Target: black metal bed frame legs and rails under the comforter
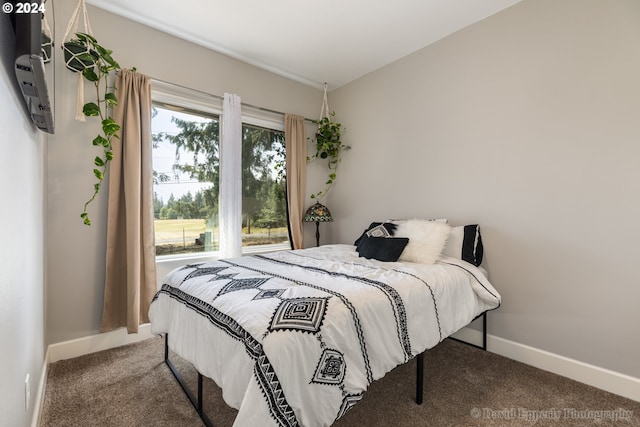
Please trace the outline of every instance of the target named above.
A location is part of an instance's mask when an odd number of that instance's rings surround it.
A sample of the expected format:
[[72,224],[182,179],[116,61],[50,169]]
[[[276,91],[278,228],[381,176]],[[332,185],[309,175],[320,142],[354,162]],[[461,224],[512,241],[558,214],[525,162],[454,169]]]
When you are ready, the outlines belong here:
[[[461,339],[454,338],[454,337],[448,337],[448,338],[486,351],[487,350],[487,312],[485,311],[482,314],[478,315],[475,319],[472,320],[472,322],[478,318],[482,318],[482,344],[481,345],[473,344],[473,343],[463,341]],[[417,362],[416,363],[416,366],[417,366],[416,404],[418,405],[422,405],[423,394],[424,394],[423,393],[424,392],[424,355],[426,352],[427,350],[423,351],[418,356],[416,356],[416,362]],[[184,381],[184,379],[182,378],[182,376],[180,375],[176,367],[173,365],[173,363],[169,359],[169,334],[165,334],[164,362],[167,364],[167,366],[171,370],[171,373],[173,373],[173,376],[178,381],[178,384],[180,384],[180,387],[182,387],[182,390],[189,398],[189,401],[191,402],[195,410],[198,412],[198,415],[200,416],[200,419],[202,419],[202,422],[204,423],[204,425],[207,427],[213,427],[213,423],[211,422],[207,414],[204,412],[203,405],[202,405],[202,394],[203,394],[202,384],[203,384],[204,377],[198,371],[198,391],[197,391],[198,395],[194,396],[193,392],[189,390],[189,387],[187,386],[186,382]]]

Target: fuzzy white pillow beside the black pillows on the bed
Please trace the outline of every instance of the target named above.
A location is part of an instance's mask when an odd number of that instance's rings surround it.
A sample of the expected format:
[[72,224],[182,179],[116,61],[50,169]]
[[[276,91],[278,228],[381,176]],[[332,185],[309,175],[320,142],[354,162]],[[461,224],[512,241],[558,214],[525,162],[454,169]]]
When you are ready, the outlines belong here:
[[434,264],[444,249],[451,226],[442,222],[409,219],[398,222],[394,237],[408,237],[409,243],[398,261]]

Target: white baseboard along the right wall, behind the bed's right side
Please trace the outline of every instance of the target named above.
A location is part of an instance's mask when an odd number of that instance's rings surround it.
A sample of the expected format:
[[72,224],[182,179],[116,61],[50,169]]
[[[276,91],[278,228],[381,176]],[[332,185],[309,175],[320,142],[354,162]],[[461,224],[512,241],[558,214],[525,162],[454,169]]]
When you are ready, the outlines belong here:
[[[471,328],[463,328],[453,336],[468,342],[482,342],[482,332]],[[640,378],[489,334],[487,351],[640,402]]]

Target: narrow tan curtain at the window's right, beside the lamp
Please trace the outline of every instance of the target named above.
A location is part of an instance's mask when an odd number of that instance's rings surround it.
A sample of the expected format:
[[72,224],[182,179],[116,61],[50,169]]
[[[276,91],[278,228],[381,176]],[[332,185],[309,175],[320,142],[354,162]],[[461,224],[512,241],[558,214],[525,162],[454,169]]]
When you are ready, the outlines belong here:
[[307,186],[307,137],[304,117],[284,115],[284,141],[287,150],[287,209],[293,249],[304,247],[302,216]]

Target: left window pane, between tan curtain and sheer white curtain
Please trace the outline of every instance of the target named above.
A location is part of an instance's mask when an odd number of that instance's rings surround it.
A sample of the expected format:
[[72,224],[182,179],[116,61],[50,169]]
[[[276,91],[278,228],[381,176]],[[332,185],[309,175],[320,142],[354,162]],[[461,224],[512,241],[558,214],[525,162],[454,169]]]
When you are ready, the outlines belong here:
[[156,103],[151,127],[156,255],[216,250],[218,117]]

